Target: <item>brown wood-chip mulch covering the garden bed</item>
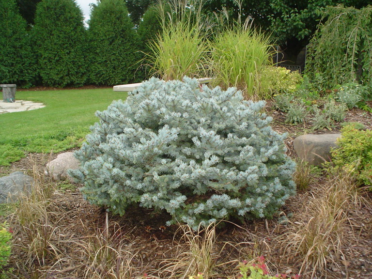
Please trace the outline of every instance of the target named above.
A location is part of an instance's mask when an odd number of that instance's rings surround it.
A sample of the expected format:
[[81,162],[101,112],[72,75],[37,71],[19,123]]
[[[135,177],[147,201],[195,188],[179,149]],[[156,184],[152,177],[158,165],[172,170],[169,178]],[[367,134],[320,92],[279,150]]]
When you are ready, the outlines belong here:
[[[97,87],[95,87],[97,88]],[[107,88],[107,87],[102,87]],[[76,89],[76,88],[71,88]],[[92,88],[81,88],[81,89],[92,89]],[[41,90],[60,90],[51,89],[46,87],[33,88],[34,91]],[[268,109],[268,114],[273,117],[272,127],[274,130],[280,133],[287,133],[288,138],[285,141],[288,147],[288,155],[295,157],[292,142],[295,137],[305,133],[339,133],[341,125],[335,125],[332,130],[323,129],[319,131],[312,131],[311,125],[308,122],[302,125],[289,125],[285,124],[285,115]],[[359,122],[366,126],[367,129],[372,129],[372,114],[370,112],[363,111],[361,109],[353,109],[349,111],[345,117],[347,122]],[[57,157],[58,154],[29,154],[27,157],[14,162],[10,167],[0,167],[0,176],[12,173],[14,171],[24,171],[25,173],[32,175],[34,168],[42,170],[48,161]],[[311,191],[316,191],[317,186],[324,183],[324,178],[317,178],[310,186]],[[79,185],[76,185],[78,188]],[[63,197],[61,197],[61,195]],[[308,193],[299,192],[295,197],[290,198],[286,205],[281,208],[281,211],[288,214],[296,214],[300,206],[299,203],[306,203],[306,196]],[[364,192],[363,195],[369,201],[372,201],[371,192]],[[166,227],[165,222],[170,219],[170,216],[166,213],[157,213],[151,209],[144,209],[133,206],[128,208],[123,217],[113,216],[110,213],[97,206],[93,206],[86,202],[81,196],[77,189],[68,189],[62,194],[59,193],[56,199],[61,199],[59,203],[63,212],[65,212],[65,221],[61,221],[61,241],[69,239],[78,239],[89,234],[93,234],[97,231],[105,228],[106,218],[109,218],[110,222],[119,224],[121,232],[132,242],[136,249],[136,257],[134,263],[143,266],[139,267],[139,273],[143,274],[149,270],[159,268],[159,262],[157,260],[167,259],[174,256],[174,248],[177,243],[182,243],[181,234],[176,233],[178,230],[177,226]],[[356,215],[351,220],[353,223],[354,233],[358,235],[358,241],[355,243],[349,243],[347,247],[343,247],[343,259],[339,260],[339,266],[329,266],[328,278],[339,279],[370,279],[372,278],[372,202],[369,203],[371,206],[363,205],[357,210]],[[244,260],[243,255],[249,256],[252,253],[253,243],[259,244],[258,250],[268,260],[268,266],[272,271],[284,273],[287,272],[290,275],[296,274],[299,271],[298,263],[296,259],[286,259],[283,255],[273,250],[273,240],[286,230],[285,225],[278,223],[279,216],[274,216],[271,220],[247,220],[246,223],[241,224],[240,227],[233,224],[227,224],[223,228],[218,229],[217,234],[218,241],[221,242],[244,242],[245,245],[239,246],[239,248],[231,248],[226,246],[225,256],[232,257],[234,259]],[[67,220],[67,221],[66,221]],[[1,221],[1,220],[0,220]],[[12,222],[12,220],[10,220]],[[63,223],[64,222],[64,223]],[[16,223],[13,222],[16,226]],[[15,230],[15,234],[18,236],[19,231]],[[17,247],[23,239],[14,237],[14,242]],[[173,248],[173,249],[172,249]],[[71,253],[66,248],[66,253]],[[15,249],[19,251],[19,249]],[[21,252],[20,252],[21,253]],[[250,257],[256,257],[259,255],[251,254]],[[11,256],[11,267],[17,268],[16,263],[19,263],[18,254],[13,253]],[[74,259],[67,259],[63,266],[74,266],[78,264],[74,262]],[[226,271],[226,278],[233,273],[236,274],[237,270],[234,268],[236,263],[231,264],[230,269]],[[65,269],[63,273],[51,276],[49,278],[75,278],[74,272]],[[224,277],[223,277],[224,278]],[[309,278],[304,276],[303,278]],[[323,278],[319,275],[317,278]]]

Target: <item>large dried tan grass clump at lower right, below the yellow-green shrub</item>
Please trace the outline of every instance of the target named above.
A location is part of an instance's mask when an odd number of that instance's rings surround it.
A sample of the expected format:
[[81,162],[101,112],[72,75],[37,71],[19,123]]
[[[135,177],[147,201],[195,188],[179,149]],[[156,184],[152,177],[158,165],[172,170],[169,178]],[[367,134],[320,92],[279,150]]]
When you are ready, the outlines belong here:
[[276,248],[283,259],[297,259],[300,274],[326,277],[330,265],[341,268],[343,247],[357,239],[349,216],[360,208],[363,198],[350,175],[337,173],[330,174],[305,200],[289,228],[277,237]]

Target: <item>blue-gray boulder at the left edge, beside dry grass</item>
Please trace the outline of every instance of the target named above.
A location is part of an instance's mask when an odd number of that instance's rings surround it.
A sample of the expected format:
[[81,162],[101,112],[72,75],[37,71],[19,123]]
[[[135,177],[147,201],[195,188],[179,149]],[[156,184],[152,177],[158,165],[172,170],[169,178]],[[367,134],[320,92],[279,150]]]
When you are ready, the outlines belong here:
[[19,195],[30,191],[33,178],[22,171],[0,177],[0,203],[16,202]]

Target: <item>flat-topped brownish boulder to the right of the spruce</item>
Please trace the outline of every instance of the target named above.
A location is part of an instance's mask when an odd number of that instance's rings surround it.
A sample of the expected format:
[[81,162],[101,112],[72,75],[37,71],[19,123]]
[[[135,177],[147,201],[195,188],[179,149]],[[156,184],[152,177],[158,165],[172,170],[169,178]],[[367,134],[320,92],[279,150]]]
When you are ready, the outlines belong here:
[[330,161],[331,148],[336,147],[337,138],[341,134],[302,135],[294,139],[293,147],[298,158],[313,166],[321,166],[325,161]]

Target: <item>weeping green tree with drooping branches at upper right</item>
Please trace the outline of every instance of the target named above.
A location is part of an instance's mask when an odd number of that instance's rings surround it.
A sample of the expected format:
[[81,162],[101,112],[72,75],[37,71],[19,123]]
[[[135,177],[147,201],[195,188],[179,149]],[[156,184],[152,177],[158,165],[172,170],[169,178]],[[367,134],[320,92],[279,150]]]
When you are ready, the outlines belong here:
[[310,41],[306,69],[328,88],[346,82],[372,84],[372,6],[328,6]]

